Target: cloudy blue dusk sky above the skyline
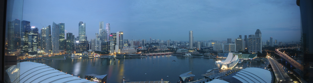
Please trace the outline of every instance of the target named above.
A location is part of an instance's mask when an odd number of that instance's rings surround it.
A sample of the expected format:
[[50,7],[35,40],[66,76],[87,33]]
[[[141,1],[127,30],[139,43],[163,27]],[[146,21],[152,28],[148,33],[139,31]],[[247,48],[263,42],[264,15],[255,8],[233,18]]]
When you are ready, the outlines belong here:
[[227,40],[262,32],[262,41],[300,42],[300,8],[296,0],[24,0],[23,20],[38,27],[65,23],[65,34],[78,36],[86,23],[88,40],[99,22],[124,39],[188,41]]

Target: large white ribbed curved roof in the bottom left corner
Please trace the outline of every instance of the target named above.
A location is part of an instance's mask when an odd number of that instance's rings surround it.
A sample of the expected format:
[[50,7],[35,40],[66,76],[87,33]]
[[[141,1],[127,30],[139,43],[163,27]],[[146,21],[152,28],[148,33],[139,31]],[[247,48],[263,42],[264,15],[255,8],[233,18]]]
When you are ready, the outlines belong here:
[[19,83],[97,83],[35,62],[20,62]]

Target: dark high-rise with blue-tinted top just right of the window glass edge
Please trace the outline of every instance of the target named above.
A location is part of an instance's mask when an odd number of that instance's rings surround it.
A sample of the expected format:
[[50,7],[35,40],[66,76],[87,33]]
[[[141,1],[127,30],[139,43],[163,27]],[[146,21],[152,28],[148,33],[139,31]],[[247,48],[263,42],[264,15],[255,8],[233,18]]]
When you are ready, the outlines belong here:
[[21,52],[28,52],[28,34],[31,32],[30,22],[22,21],[21,27]]

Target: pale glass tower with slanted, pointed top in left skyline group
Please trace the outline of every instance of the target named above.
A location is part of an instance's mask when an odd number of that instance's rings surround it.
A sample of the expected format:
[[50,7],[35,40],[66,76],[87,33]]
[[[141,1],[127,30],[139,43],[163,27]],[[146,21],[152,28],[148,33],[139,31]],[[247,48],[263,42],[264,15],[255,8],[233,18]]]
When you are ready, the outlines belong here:
[[60,26],[52,23],[52,53],[59,53]]

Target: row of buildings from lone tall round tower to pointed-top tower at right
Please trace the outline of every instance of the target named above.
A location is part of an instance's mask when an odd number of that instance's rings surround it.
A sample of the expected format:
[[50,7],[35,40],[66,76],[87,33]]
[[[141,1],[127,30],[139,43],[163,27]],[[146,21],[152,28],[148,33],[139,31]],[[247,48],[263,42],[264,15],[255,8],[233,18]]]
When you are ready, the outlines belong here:
[[[233,42],[231,38],[227,38],[227,41],[221,42],[211,42],[206,41],[193,41],[193,31],[189,31],[189,45],[188,49],[198,49],[200,50],[201,47],[213,47],[214,51],[223,51],[224,53],[231,52],[231,51],[245,51],[248,50],[249,53],[262,53],[262,33],[259,29],[256,30],[255,35],[245,35],[242,38],[242,35],[239,35],[238,38],[235,38]],[[277,41],[277,40],[276,40]]]

